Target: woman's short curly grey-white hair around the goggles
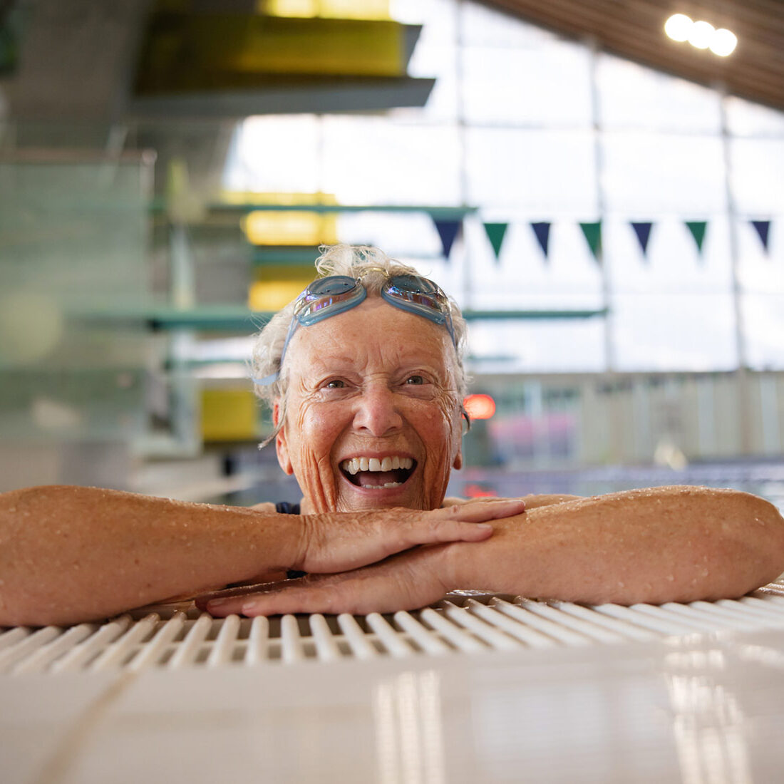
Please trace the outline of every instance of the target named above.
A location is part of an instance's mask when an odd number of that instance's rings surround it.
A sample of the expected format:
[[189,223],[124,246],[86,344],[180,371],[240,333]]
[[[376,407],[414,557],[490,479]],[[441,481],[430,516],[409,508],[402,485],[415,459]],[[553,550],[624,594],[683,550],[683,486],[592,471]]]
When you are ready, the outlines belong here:
[[[316,260],[318,278],[325,278],[328,275],[362,278],[362,284],[365,286],[368,296],[381,296],[382,286],[394,275],[419,274],[414,267],[409,267],[396,259],[390,259],[383,250],[373,248],[370,245],[322,245],[319,250],[321,250],[321,256]],[[466,371],[463,367],[463,357],[466,351],[466,320],[451,297],[449,298],[449,310],[452,315],[452,328],[455,332],[457,392],[460,401],[463,401],[467,390]],[[256,396],[270,407],[274,401],[280,401],[278,426],[261,446],[274,439],[285,421],[289,368],[288,363],[285,363],[285,366],[281,368],[281,354],[293,313],[294,300],[270,318],[267,325],[256,336],[253,345],[251,369]],[[275,373],[278,373],[278,378],[274,383],[258,383],[258,379],[273,376]],[[466,417],[466,420],[468,419],[464,411],[463,416]]]

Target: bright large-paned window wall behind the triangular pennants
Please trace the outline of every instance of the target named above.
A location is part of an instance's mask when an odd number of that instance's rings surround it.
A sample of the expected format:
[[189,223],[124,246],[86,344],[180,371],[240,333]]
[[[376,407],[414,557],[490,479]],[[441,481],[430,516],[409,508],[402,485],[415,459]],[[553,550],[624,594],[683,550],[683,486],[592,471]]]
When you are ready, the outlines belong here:
[[[609,307],[474,322],[474,372],[784,366],[784,114],[473,2],[392,10],[423,24],[409,72],[437,77],[426,107],[249,118],[227,188],[476,207],[448,260],[425,214],[341,216],[339,237],[411,260],[463,307]],[[601,263],[579,225],[599,220]],[[750,220],[771,221],[767,250]],[[632,221],[652,223],[645,253]],[[707,224],[701,250],[687,221]],[[509,224],[497,258],[483,223]]]

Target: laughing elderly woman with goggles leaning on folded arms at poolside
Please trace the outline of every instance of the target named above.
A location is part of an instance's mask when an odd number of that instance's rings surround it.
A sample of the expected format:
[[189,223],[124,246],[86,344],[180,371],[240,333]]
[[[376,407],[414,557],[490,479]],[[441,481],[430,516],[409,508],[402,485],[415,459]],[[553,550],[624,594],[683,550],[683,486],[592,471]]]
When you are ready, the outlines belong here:
[[[214,615],[386,612],[477,588],[585,602],[736,597],[784,569],[753,495],[654,488],[442,507],[463,462],[465,322],[432,281],[339,246],[255,351],[299,508],[95,488],[0,496],[0,623],[101,618],[229,583]],[[281,580],[286,570],[307,576]]]

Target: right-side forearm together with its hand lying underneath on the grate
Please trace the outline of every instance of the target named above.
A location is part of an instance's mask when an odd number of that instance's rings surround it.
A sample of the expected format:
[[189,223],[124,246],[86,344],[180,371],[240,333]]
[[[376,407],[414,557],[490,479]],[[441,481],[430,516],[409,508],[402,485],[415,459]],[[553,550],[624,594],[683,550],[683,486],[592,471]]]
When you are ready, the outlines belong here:
[[666,487],[530,508],[492,539],[419,547],[343,575],[210,602],[243,612],[394,612],[474,588],[589,604],[739,597],[784,571],[784,521],[733,490]]

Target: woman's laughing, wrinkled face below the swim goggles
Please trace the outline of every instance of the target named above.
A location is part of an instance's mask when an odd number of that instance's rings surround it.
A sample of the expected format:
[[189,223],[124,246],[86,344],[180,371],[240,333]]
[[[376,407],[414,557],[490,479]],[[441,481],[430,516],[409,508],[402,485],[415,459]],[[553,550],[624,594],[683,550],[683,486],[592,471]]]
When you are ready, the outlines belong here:
[[441,505],[463,461],[456,354],[444,327],[368,296],[299,327],[286,364],[276,447],[303,490],[303,512]]

